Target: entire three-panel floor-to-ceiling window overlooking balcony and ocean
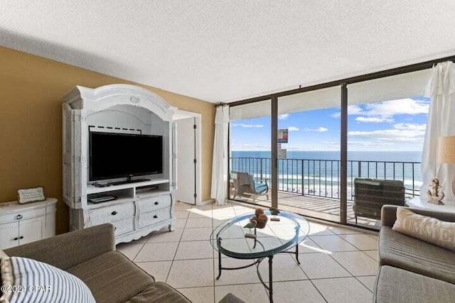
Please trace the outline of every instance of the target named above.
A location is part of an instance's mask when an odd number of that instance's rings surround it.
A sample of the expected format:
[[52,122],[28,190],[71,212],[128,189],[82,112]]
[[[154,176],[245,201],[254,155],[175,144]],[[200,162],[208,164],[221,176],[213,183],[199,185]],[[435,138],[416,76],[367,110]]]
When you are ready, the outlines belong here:
[[[230,199],[378,228],[378,211],[355,207],[355,180],[395,180],[405,199],[419,195],[429,67],[424,62],[235,102]],[[237,172],[247,172],[244,180]]]

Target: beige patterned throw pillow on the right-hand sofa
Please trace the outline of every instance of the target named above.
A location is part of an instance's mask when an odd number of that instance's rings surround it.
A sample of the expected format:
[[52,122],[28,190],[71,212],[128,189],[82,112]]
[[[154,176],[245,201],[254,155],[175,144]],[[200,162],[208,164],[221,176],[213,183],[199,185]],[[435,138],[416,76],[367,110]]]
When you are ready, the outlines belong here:
[[397,221],[392,229],[437,246],[455,251],[455,222],[441,221],[397,208]]

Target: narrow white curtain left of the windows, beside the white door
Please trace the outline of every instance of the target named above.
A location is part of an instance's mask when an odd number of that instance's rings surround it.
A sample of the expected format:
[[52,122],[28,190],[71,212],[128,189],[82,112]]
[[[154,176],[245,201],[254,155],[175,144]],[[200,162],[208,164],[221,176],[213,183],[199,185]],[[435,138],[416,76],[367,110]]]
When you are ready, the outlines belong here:
[[210,197],[217,205],[226,203],[228,196],[228,129],[229,106],[216,108],[213,140],[212,190]]

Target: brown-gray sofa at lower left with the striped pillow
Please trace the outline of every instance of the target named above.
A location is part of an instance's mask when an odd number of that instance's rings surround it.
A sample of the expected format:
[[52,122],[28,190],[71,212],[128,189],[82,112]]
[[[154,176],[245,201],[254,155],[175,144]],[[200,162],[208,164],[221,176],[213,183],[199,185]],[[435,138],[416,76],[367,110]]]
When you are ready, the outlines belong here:
[[[80,277],[98,303],[190,302],[173,287],[155,282],[154,277],[116,251],[111,224],[9,248],[5,253],[48,263]],[[229,294],[221,302],[243,301]]]

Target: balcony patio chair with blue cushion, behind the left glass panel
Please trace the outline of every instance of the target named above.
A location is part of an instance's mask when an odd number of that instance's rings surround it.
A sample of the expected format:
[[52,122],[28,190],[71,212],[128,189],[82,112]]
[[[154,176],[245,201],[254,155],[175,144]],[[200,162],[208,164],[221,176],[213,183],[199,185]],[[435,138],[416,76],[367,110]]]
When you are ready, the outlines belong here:
[[250,196],[253,202],[256,201],[257,197],[266,195],[269,199],[269,184],[267,179],[264,182],[256,182],[253,177],[247,172],[231,172],[231,177],[234,184],[234,193],[232,199],[235,197]]

